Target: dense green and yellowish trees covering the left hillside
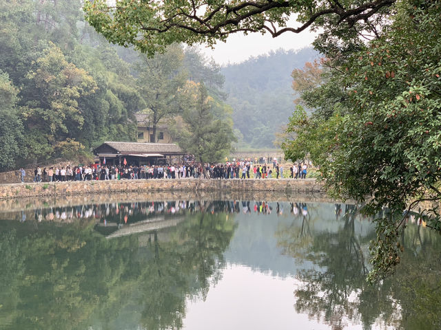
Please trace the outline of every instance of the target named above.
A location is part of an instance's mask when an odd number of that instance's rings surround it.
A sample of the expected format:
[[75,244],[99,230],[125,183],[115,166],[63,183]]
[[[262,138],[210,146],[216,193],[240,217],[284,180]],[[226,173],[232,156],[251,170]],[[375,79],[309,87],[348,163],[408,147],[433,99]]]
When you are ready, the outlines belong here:
[[[17,86],[14,111],[8,111],[13,124],[4,126],[14,127],[4,136],[15,142],[8,144],[8,164],[1,170],[56,157],[62,141],[89,150],[102,140],[134,140],[134,108],[111,84],[127,83],[128,70],[123,72],[115,52],[112,61],[120,67],[105,67],[112,49],[91,36],[81,1],[2,1],[0,9],[0,70]],[[132,94],[133,81],[125,85]]]

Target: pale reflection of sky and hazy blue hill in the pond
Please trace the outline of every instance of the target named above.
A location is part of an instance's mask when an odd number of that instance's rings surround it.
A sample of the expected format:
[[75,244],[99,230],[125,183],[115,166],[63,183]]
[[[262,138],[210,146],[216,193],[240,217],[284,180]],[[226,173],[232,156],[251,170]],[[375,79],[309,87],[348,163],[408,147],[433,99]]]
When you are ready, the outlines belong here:
[[[294,292],[302,286],[296,278],[298,270],[322,267],[283,254],[278,237],[287,229],[300,231],[305,222],[309,225],[306,235],[337,232],[342,227],[342,214],[336,217],[336,206],[325,203],[277,206],[274,202],[269,203],[271,210],[266,214],[258,214],[255,206],[251,213],[240,212],[234,217],[238,228],[225,251],[223,277],[210,287],[206,300],[187,300],[184,329],[331,329],[294,308]],[[367,219],[356,221],[354,230],[365,236],[373,225]],[[356,296],[353,292],[349,300],[356,300]],[[362,329],[359,322],[354,324],[347,318],[342,324],[345,329]]]

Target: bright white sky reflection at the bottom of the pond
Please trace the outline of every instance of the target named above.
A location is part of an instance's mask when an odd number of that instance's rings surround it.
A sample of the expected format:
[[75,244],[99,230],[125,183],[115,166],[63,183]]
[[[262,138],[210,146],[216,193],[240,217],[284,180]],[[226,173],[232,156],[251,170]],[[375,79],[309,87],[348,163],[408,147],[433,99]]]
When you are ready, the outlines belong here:
[[[222,281],[210,288],[205,301],[187,301],[183,329],[331,329],[296,313],[293,292],[299,285],[295,278],[227,265]],[[347,329],[362,330],[361,325],[348,325]]]

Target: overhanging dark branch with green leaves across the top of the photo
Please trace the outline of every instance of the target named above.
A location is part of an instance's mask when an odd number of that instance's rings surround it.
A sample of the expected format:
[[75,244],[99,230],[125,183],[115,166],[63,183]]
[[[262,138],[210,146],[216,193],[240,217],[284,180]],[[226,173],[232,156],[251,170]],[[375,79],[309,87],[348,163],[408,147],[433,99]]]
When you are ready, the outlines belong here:
[[[85,1],[86,19],[107,40],[153,54],[174,42],[225,41],[238,32],[280,36],[311,27],[339,30],[377,19],[396,0]],[[300,26],[287,26],[296,14]]]

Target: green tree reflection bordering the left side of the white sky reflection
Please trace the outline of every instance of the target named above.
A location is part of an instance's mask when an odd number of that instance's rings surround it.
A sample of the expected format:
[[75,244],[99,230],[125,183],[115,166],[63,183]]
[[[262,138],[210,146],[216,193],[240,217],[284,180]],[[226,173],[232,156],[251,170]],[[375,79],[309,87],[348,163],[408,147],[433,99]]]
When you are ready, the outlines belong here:
[[161,243],[154,238],[154,267],[145,281],[152,283],[143,291],[143,325],[147,329],[179,328],[185,316],[185,297],[201,294],[205,298],[209,280],[217,281],[223,266],[223,252],[234,231],[225,214],[196,213],[172,240]]

